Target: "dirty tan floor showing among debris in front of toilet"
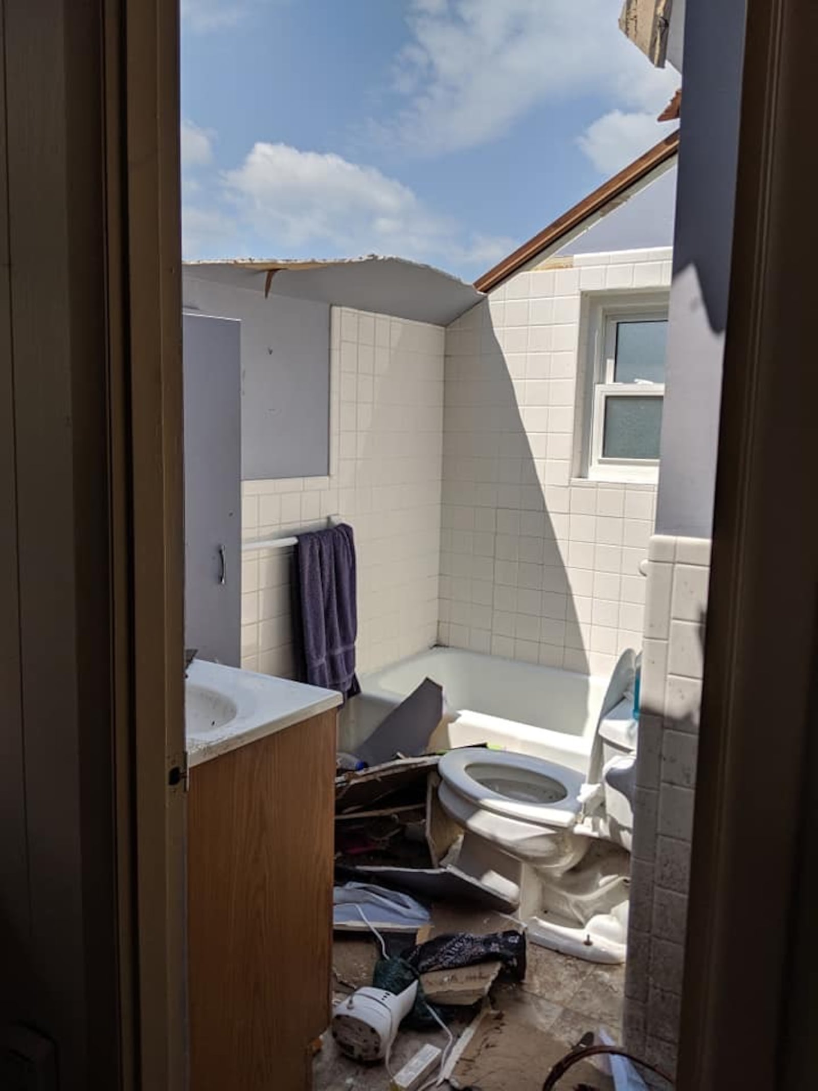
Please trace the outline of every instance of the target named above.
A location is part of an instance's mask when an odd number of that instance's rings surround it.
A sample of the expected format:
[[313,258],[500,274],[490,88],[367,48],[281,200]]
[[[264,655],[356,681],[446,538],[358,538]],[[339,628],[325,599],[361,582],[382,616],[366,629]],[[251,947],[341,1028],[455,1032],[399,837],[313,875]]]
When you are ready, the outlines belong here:
[[[438,906],[432,911],[433,935],[447,932],[502,932],[510,927],[508,918],[473,909]],[[334,1002],[353,988],[371,984],[377,957],[373,939],[336,938],[334,946]],[[540,1091],[551,1066],[588,1031],[604,1028],[621,1040],[624,967],[596,966],[528,946],[528,973],[520,985],[497,984],[492,990],[493,1007],[503,1015],[485,1039],[485,1047],[466,1071],[481,1091]],[[469,1026],[472,1011],[452,1023],[457,1039]],[[426,1042],[446,1045],[443,1032],[400,1031],[392,1055],[397,1071]],[[564,1046],[564,1048],[563,1048]],[[573,1088],[574,1069],[561,1087]],[[611,1088],[610,1079],[594,1070],[594,1088]],[[444,1088],[452,1084],[443,1084]],[[389,1077],[383,1065],[365,1068],[345,1058],[329,1034],[316,1055],[314,1091],[388,1091]]]

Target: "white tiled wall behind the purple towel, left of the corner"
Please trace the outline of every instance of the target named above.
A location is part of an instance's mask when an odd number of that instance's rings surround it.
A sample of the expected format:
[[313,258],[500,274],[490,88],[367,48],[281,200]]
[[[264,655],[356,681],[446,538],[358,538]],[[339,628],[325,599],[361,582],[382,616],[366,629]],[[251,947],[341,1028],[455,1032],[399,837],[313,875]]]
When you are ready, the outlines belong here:
[[[245,542],[320,527],[356,532],[358,667],[434,644],[437,631],[445,331],[333,308],[330,472],[245,481]],[[291,676],[291,550],[245,550],[242,666]]]

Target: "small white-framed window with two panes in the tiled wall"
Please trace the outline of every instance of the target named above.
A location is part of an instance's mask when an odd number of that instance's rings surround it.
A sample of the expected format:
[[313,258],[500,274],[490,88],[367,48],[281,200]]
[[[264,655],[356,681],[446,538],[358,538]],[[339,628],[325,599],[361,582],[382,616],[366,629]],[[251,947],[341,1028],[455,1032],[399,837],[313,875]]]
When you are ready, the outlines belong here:
[[666,302],[599,307],[593,317],[588,477],[655,480]]

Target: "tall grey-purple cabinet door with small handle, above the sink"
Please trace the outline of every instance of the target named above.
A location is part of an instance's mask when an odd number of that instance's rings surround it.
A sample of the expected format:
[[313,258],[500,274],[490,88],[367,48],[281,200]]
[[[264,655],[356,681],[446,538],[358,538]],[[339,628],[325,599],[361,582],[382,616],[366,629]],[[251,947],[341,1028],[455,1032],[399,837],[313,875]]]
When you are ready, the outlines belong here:
[[241,657],[241,323],[185,314],[184,643]]

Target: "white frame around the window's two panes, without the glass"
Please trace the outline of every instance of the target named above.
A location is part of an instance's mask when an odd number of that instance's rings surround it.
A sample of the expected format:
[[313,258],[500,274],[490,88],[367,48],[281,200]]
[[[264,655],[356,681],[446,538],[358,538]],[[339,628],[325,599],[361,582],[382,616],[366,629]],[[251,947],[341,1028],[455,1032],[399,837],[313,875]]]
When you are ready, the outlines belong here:
[[591,367],[587,398],[585,443],[586,477],[591,481],[624,481],[655,483],[659,479],[658,458],[611,458],[602,454],[605,405],[615,397],[664,398],[664,383],[617,383],[616,326],[619,322],[667,321],[669,292],[640,296],[638,299],[615,297],[600,299],[593,305],[590,338]]

